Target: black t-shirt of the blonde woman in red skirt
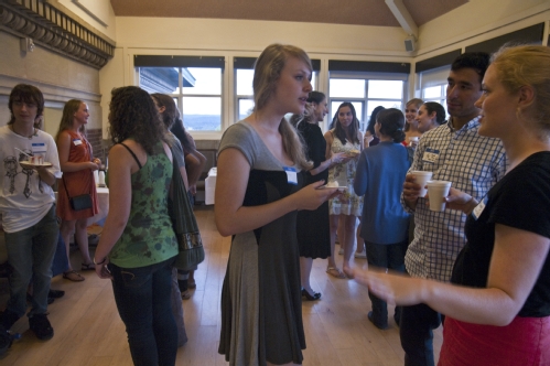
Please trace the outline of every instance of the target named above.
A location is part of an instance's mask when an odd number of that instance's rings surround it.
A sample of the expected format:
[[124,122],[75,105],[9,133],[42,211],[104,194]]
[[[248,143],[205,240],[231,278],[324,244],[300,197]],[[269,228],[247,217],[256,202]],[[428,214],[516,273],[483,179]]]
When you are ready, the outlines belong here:
[[[453,268],[451,282],[486,288],[495,245],[495,224],[550,238],[550,152],[538,152],[508,172],[483,200],[485,208],[464,228],[467,244]],[[535,288],[519,316],[550,315],[550,258],[547,256]]]

